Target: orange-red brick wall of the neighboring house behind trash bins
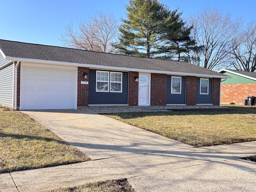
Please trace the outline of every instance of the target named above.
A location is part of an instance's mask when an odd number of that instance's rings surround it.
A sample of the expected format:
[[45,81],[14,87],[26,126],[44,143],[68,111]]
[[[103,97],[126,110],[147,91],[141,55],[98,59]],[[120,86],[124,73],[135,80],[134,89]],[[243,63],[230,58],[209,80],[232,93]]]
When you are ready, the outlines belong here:
[[[222,84],[221,85],[221,102],[242,104],[243,99],[247,96],[256,96],[256,84]],[[256,99],[254,99],[256,104]]]

